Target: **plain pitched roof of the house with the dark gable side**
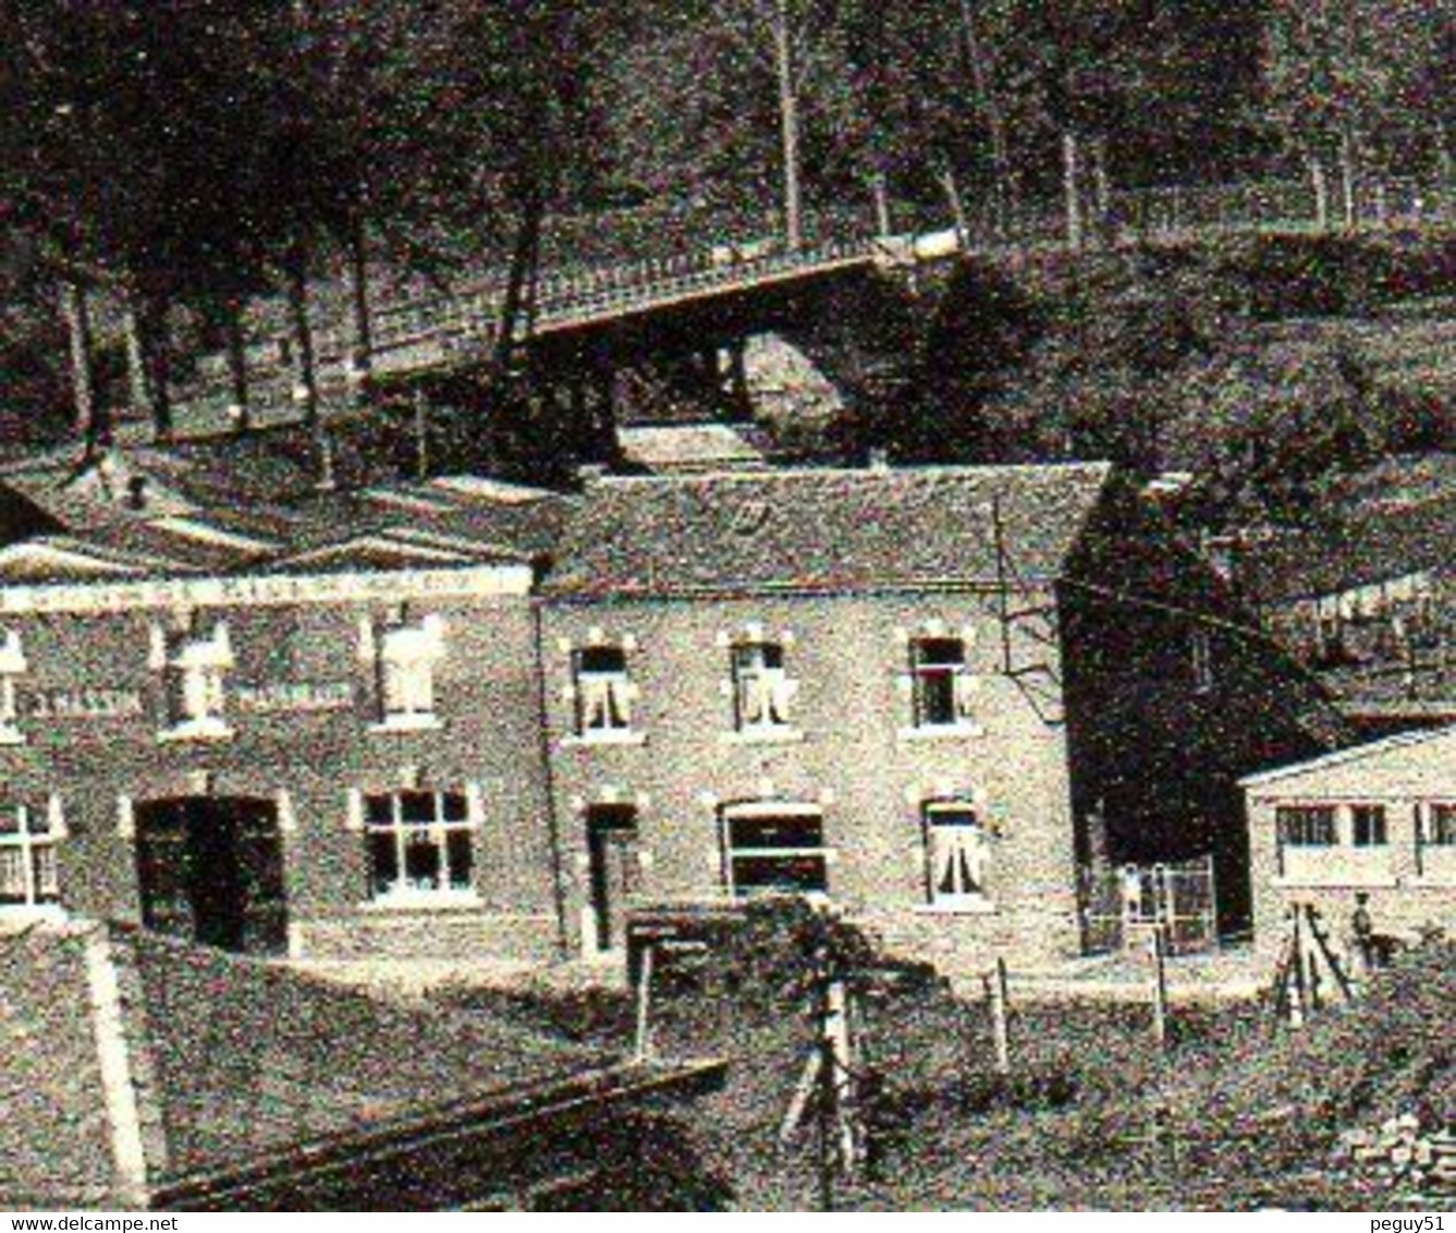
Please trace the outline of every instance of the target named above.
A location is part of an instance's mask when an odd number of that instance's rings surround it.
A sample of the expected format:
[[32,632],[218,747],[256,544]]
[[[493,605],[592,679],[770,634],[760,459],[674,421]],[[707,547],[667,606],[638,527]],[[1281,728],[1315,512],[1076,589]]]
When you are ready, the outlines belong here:
[[670,595],[1060,576],[1105,463],[772,470],[604,479],[569,520],[545,591]]

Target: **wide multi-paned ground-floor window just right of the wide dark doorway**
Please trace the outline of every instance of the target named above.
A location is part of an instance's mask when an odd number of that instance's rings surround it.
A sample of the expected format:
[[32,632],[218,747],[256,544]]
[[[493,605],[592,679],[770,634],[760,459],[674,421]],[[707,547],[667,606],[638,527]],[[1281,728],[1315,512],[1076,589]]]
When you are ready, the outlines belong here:
[[476,825],[466,792],[405,789],[367,793],[363,804],[374,903],[472,897]]

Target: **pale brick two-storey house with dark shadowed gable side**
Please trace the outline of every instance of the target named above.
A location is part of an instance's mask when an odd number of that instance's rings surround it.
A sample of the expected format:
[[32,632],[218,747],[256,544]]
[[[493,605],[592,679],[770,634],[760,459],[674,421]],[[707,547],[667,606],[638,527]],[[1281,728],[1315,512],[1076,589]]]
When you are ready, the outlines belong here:
[[1079,954],[1085,873],[1210,856],[1338,723],[1099,464],[603,479],[543,584],[568,920],[826,895],[948,970]]

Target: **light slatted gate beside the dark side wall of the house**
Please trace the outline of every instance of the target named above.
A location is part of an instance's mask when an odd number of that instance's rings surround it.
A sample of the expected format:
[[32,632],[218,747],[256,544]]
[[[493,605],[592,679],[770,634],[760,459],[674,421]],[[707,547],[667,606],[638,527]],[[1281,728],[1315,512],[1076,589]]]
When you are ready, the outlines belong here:
[[1105,954],[1162,926],[1171,955],[1219,945],[1213,857],[1082,871],[1082,946]]

